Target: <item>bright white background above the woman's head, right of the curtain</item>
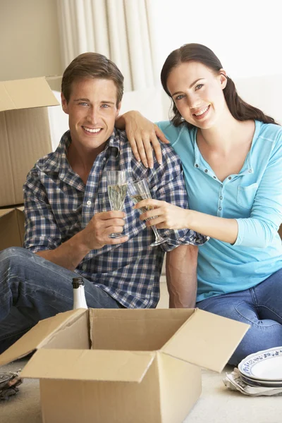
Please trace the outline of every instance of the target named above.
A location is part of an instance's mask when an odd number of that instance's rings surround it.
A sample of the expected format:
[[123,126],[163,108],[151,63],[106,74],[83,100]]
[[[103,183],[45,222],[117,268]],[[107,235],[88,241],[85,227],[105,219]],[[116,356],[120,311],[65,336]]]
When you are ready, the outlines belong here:
[[152,0],[159,72],[182,44],[205,44],[231,78],[282,73],[281,0]]

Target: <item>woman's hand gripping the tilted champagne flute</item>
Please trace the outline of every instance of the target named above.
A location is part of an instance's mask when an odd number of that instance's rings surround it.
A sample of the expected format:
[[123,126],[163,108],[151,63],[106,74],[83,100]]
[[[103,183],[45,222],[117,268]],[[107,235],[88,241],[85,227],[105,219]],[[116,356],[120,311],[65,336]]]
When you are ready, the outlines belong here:
[[140,215],[142,221],[154,217],[146,222],[146,226],[156,225],[158,229],[187,229],[190,210],[174,206],[165,201],[149,198],[135,204],[134,209],[147,209],[149,211]]

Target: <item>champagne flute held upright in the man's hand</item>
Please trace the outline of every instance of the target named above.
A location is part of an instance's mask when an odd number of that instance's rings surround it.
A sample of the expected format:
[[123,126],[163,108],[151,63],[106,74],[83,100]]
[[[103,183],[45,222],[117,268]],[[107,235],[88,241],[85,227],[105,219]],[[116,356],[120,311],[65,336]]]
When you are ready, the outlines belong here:
[[[126,171],[106,171],[111,210],[121,211],[128,189]],[[121,238],[123,233],[110,233],[109,238]]]

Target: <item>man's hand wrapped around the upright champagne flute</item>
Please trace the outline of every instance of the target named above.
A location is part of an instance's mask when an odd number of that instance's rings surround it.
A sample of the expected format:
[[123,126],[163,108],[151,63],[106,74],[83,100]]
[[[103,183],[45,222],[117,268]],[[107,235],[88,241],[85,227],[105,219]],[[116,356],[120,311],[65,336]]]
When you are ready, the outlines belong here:
[[123,231],[125,213],[102,212],[94,214],[85,229],[82,230],[83,244],[88,250],[98,250],[104,245],[125,243],[128,236],[122,238],[110,238],[111,233]]

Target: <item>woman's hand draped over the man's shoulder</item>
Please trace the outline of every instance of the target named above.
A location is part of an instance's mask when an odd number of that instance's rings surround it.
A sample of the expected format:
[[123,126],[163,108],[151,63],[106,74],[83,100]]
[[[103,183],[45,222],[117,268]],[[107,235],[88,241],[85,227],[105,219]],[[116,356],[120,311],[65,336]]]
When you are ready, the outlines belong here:
[[[144,166],[149,166],[149,168],[153,168],[154,166],[152,147],[158,163],[161,164],[162,159],[159,140],[165,144],[169,144],[169,141],[157,125],[142,116],[139,111],[128,111],[118,116],[116,119],[116,127],[125,129],[135,158],[138,161],[142,160]],[[157,137],[159,137],[159,140]]]

